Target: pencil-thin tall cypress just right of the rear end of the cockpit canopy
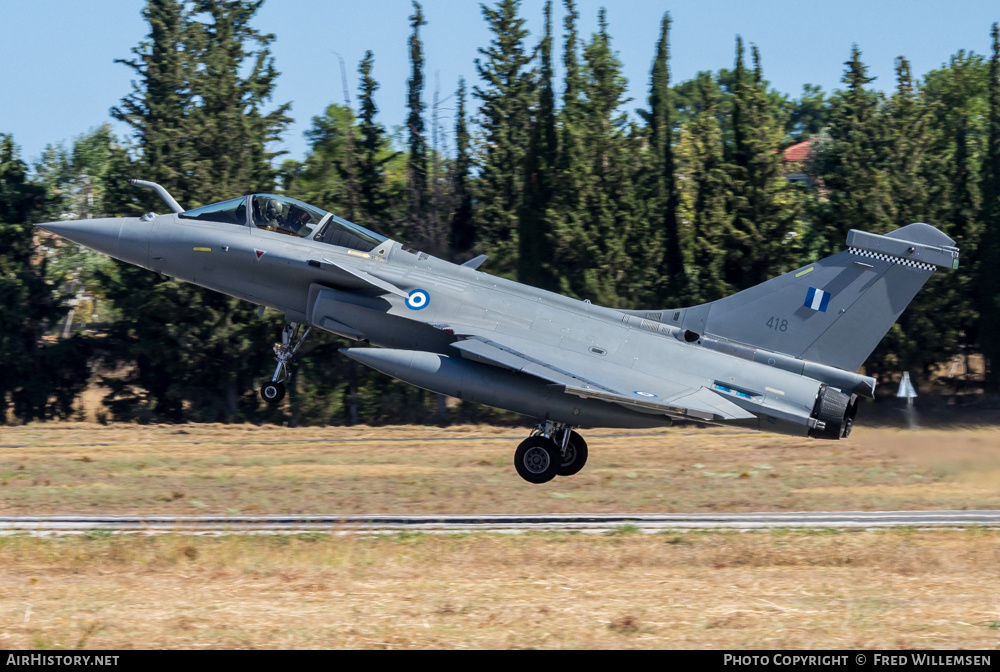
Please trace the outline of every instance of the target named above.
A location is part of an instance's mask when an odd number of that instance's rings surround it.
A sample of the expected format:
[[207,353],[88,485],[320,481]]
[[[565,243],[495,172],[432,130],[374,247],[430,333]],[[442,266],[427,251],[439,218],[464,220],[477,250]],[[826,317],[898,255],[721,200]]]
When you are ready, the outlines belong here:
[[413,2],[409,18],[413,33],[410,35],[410,78],[406,82],[406,106],[409,114],[406,128],[409,133],[410,157],[408,164],[408,193],[410,231],[413,244],[424,243],[428,232],[424,230],[427,206],[427,139],[424,137],[424,48],[420,41],[420,27],[426,26],[419,2]]

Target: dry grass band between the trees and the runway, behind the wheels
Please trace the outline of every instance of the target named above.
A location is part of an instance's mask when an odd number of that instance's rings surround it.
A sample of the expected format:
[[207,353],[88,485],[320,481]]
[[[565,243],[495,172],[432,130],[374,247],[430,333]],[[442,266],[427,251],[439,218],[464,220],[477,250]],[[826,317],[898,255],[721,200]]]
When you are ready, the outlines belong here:
[[585,432],[577,476],[514,472],[517,428],[0,427],[0,513],[619,513],[1000,508],[1000,430],[827,442]]

